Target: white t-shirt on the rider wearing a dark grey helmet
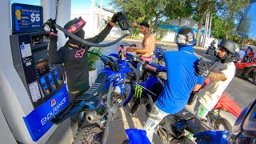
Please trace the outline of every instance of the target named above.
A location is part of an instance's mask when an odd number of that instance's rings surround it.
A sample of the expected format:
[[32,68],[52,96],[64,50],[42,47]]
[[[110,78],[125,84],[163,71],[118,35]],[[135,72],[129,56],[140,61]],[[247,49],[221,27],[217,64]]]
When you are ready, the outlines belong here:
[[234,62],[222,63],[215,62],[214,66],[210,68],[210,71],[214,73],[222,72],[226,76],[225,81],[214,81],[210,80],[209,84],[206,85],[202,90],[198,92],[199,102],[207,110],[212,110],[217,104],[219,98],[221,98],[223,91],[226,89],[226,86],[229,85],[230,81],[234,78],[235,66]]

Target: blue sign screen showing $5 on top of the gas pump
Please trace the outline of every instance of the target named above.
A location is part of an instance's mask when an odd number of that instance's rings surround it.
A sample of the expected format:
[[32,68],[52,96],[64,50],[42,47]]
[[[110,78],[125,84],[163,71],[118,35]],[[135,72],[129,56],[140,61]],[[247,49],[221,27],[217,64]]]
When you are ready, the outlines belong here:
[[13,34],[42,31],[42,6],[13,3],[12,28]]

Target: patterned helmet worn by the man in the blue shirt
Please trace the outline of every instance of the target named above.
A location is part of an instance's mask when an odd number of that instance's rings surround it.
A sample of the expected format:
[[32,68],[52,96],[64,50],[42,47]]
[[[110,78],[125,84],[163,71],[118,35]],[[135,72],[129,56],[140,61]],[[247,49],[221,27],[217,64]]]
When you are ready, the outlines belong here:
[[181,27],[176,35],[175,43],[180,46],[195,45],[197,40],[194,38],[194,32],[190,27]]

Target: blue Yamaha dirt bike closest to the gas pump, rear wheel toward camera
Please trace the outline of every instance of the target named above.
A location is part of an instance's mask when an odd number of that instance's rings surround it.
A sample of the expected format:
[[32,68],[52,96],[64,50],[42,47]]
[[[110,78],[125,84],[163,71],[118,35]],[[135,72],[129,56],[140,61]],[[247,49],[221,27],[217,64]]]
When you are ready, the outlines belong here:
[[[89,52],[91,54],[95,54]],[[108,124],[113,116],[117,114],[118,107],[125,106],[131,98],[131,84],[126,83],[126,74],[132,71],[129,66],[119,66],[112,58],[96,54],[104,63],[104,68],[99,72],[94,85],[85,93],[75,98],[74,105],[66,108],[55,115],[50,122],[59,124],[80,113],[80,118],[86,118],[89,126],[80,127],[74,143],[102,142],[108,134]],[[92,124],[97,123],[97,126]]]

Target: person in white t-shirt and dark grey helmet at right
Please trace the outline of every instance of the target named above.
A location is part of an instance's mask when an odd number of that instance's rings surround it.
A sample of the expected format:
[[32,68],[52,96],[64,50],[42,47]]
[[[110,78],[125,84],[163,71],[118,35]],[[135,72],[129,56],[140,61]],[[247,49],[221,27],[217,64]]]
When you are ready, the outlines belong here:
[[226,86],[234,78],[235,66],[233,57],[235,53],[234,42],[222,39],[218,44],[218,61],[208,70],[206,63],[198,63],[197,74],[210,78],[210,83],[198,91],[200,105],[197,114],[205,118],[210,110],[217,104]]

